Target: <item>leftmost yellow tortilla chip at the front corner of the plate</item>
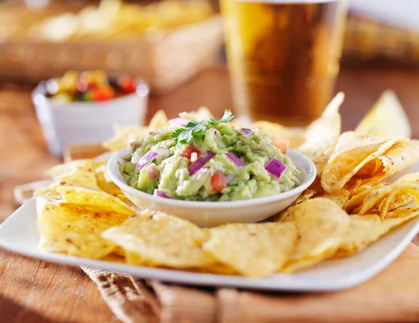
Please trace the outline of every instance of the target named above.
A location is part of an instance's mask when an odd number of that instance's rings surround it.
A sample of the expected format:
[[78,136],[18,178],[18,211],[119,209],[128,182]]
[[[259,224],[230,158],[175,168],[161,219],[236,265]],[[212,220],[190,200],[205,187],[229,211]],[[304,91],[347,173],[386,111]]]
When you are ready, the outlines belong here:
[[101,238],[101,233],[128,217],[114,210],[52,203],[43,198],[36,199],[36,204],[43,246],[77,257],[100,259],[110,254],[116,246]]

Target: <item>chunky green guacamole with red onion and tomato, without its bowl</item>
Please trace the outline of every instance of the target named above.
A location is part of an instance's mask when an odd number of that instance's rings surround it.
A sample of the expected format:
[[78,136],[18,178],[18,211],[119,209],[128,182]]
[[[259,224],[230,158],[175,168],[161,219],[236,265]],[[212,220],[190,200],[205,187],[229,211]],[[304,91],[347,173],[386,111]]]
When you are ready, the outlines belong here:
[[[176,118],[172,126],[131,143],[120,171],[128,185],[148,194],[187,201],[236,201],[286,192],[300,173],[286,157],[288,141],[221,120]],[[282,144],[281,144],[282,143]],[[286,143],[286,144],[284,144]],[[277,146],[276,146],[277,145]]]

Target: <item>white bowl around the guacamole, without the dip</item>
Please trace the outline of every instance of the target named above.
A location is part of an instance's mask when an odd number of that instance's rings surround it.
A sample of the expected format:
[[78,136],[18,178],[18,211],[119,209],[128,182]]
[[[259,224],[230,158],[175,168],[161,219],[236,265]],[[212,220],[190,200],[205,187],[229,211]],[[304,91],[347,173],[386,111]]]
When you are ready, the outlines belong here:
[[300,171],[298,176],[301,185],[288,192],[271,196],[258,197],[241,201],[227,202],[197,202],[165,199],[141,192],[126,184],[119,165],[125,164],[122,155],[130,151],[126,148],[113,155],[108,161],[108,173],[122,192],[139,208],[161,210],[189,220],[201,227],[213,227],[219,224],[233,222],[258,222],[275,215],[290,206],[304,189],[307,189],[316,178],[316,166],[300,152],[288,149],[286,155],[291,157]]

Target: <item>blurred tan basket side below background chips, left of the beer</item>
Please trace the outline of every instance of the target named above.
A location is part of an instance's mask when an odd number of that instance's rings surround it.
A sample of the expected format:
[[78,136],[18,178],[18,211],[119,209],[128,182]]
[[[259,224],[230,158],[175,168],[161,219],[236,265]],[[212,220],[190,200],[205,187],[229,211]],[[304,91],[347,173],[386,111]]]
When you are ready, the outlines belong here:
[[219,57],[221,17],[129,41],[0,44],[0,78],[38,82],[69,69],[103,69],[145,79],[165,94]]

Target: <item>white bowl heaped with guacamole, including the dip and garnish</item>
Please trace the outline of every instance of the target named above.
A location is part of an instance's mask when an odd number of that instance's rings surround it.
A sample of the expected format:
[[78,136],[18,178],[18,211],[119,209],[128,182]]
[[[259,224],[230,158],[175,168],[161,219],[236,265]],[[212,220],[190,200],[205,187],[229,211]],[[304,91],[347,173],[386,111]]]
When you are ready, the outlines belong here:
[[150,132],[110,159],[110,177],[142,208],[181,217],[197,208],[208,218],[215,209],[221,215],[232,212],[234,205],[246,208],[267,201],[256,217],[274,215],[279,208],[270,207],[270,201],[292,203],[314,180],[315,167],[300,153],[287,153],[285,138],[231,127],[232,119],[226,110],[220,120],[170,120],[170,127]]

